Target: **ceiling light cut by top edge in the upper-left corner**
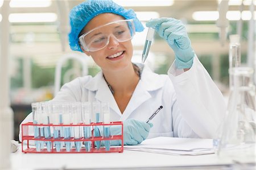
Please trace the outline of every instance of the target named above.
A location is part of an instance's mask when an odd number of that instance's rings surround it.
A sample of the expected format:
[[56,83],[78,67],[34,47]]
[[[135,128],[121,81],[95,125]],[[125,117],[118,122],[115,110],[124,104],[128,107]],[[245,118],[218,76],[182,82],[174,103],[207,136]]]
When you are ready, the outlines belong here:
[[51,0],[11,0],[10,7],[49,7]]

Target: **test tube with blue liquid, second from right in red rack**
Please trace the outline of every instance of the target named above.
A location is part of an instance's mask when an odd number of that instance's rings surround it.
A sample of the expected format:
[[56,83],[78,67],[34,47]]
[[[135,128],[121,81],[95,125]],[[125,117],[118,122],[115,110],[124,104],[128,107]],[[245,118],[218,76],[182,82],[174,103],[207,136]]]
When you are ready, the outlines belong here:
[[[94,115],[94,122],[99,123],[101,121],[101,103],[100,102],[93,102],[93,115]],[[100,128],[98,126],[94,126],[94,136],[101,136]],[[101,147],[101,141],[98,140],[95,142],[95,146],[97,150]]]

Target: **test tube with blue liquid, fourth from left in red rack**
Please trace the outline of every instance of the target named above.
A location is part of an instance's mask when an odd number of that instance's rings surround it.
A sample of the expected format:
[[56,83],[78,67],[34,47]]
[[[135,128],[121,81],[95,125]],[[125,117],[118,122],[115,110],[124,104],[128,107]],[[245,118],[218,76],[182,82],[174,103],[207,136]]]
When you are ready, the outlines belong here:
[[[71,124],[71,106],[70,105],[63,105],[63,124],[64,125],[70,125]],[[63,133],[64,133],[64,139],[71,139],[71,126],[63,126]],[[65,148],[67,152],[71,151],[71,142],[67,141],[65,142]]]

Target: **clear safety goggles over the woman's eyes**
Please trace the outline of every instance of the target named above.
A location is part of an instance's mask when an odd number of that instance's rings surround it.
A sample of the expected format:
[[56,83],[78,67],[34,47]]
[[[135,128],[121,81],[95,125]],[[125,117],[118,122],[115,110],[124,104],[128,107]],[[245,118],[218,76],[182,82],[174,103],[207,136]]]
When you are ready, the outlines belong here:
[[98,51],[109,44],[110,36],[117,42],[126,42],[135,35],[133,19],[117,20],[103,26],[93,28],[79,37],[85,51]]

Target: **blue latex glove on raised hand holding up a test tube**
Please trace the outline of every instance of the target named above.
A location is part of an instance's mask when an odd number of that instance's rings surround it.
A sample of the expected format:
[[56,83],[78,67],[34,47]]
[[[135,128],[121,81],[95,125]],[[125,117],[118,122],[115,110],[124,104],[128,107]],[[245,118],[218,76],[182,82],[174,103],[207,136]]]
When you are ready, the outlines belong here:
[[179,69],[191,68],[195,52],[191,48],[184,24],[174,18],[156,18],[146,23],[164,38],[175,52],[175,64]]

